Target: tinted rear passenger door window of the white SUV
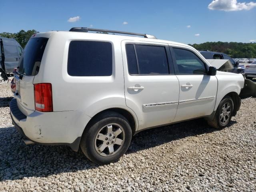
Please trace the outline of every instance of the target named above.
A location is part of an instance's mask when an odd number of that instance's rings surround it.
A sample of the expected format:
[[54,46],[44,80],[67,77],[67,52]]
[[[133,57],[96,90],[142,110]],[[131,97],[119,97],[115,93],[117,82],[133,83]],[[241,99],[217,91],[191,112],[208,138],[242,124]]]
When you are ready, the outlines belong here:
[[126,45],[129,74],[169,74],[163,46]]

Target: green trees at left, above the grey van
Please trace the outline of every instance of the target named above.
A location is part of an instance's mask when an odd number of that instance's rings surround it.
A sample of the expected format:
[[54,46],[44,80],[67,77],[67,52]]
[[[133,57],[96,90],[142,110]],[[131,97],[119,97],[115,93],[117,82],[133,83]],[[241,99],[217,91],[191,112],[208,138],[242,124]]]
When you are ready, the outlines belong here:
[[38,31],[34,29],[28,31],[20,30],[18,33],[0,33],[0,37],[13,38],[24,48],[30,37],[35,33],[38,33]]

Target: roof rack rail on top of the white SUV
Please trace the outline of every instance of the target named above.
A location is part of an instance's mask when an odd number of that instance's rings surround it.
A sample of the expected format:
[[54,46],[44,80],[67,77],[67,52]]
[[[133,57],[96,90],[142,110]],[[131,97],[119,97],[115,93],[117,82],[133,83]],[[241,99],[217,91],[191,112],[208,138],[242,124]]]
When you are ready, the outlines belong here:
[[144,38],[156,39],[155,36],[149,35],[149,34],[131,33],[131,32],[124,32],[124,31],[105,30],[105,29],[92,29],[92,28],[87,28],[87,27],[73,27],[69,31],[73,31],[73,32],[88,32],[88,31],[109,32],[109,33],[119,33],[119,34],[143,36]]

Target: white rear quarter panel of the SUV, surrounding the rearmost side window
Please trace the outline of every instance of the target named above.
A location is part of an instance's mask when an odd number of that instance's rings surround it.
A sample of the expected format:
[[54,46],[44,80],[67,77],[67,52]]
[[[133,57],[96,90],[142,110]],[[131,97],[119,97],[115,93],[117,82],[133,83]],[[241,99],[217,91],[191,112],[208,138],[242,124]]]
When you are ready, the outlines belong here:
[[[34,84],[52,84],[53,110],[80,111],[89,117],[108,108],[124,108],[124,72],[121,41],[106,35],[81,32],[55,32],[46,46],[44,63],[41,63]],[[68,48],[72,40],[106,41],[112,44],[113,70],[111,76],[70,76],[67,72]]]

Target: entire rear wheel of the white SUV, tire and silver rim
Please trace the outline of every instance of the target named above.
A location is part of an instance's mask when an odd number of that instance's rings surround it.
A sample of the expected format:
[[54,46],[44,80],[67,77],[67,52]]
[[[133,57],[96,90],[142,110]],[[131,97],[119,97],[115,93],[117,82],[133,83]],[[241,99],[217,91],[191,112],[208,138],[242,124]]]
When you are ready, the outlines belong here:
[[126,152],[131,138],[132,129],[124,116],[104,112],[84,130],[80,147],[92,162],[108,164]]

